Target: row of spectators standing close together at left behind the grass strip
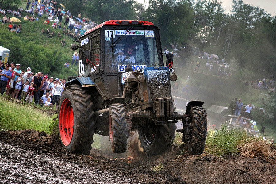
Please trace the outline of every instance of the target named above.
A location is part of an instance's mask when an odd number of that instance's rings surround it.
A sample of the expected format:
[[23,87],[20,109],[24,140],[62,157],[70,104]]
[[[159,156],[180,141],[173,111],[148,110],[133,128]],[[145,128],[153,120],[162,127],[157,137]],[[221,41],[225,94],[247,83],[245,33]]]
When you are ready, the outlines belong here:
[[40,104],[58,108],[59,98],[65,87],[66,79],[49,77],[43,72],[33,73],[28,67],[26,71],[20,69],[21,65],[14,62],[2,63],[0,61],[0,94],[6,90],[6,96],[28,103]]

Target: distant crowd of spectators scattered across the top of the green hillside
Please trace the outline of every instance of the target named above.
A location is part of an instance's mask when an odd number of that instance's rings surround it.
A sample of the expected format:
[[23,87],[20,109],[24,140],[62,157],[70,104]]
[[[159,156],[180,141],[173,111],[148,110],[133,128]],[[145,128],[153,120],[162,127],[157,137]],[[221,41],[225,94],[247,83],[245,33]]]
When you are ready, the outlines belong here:
[[[62,6],[61,6],[62,7]],[[19,33],[22,29],[21,24],[16,25],[10,21],[10,16],[21,18],[21,13],[25,11],[27,15],[23,17],[25,21],[38,21],[43,14],[48,18],[43,21],[43,24],[51,25],[51,31],[41,32],[46,34],[48,37],[57,36],[61,39],[61,34],[67,35],[69,37],[78,39],[82,36],[86,30],[93,28],[98,25],[88,17],[82,17],[81,13],[77,17],[72,16],[70,10],[64,10],[60,7],[57,7],[57,2],[53,0],[41,0],[41,1],[30,1],[27,0],[26,9],[20,6],[18,10],[4,10],[0,7],[0,13],[4,16],[1,21],[2,24],[8,23],[9,31],[16,31]],[[6,17],[7,16],[7,17]],[[64,22],[63,22],[64,20]],[[56,34],[54,29],[60,29]]]

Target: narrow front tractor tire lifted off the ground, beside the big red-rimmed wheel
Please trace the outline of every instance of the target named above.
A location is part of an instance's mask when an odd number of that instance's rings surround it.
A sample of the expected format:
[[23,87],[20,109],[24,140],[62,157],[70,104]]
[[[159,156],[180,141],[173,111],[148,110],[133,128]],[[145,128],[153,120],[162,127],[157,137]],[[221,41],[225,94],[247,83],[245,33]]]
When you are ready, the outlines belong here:
[[127,148],[128,129],[125,106],[120,103],[109,107],[109,141],[114,153],[124,153]]

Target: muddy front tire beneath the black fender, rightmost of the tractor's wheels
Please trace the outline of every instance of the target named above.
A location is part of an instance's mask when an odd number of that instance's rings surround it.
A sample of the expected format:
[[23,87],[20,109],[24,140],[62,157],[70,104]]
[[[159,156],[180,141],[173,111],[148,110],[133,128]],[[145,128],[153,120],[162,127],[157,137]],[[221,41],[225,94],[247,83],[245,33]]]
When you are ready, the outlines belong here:
[[186,140],[187,149],[191,155],[200,155],[204,151],[207,136],[207,116],[203,107],[192,107],[189,117],[191,118],[190,140]]

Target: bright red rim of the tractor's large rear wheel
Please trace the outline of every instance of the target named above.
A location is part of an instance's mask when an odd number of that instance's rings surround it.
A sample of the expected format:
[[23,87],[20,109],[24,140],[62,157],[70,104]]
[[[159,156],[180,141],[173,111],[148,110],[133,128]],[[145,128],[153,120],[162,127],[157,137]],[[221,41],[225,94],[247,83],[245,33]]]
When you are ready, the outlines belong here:
[[59,111],[59,135],[62,143],[68,146],[74,131],[74,113],[71,102],[65,98]]

